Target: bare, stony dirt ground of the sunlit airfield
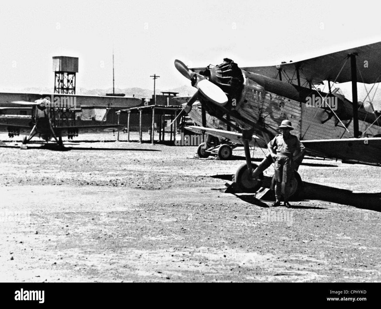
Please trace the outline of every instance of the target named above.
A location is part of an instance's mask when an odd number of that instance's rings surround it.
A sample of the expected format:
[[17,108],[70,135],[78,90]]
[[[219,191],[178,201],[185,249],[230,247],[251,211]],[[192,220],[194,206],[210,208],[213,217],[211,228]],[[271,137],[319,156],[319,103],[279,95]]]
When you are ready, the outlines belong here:
[[[77,140],[115,138],[99,136]],[[1,282],[381,281],[379,167],[307,158],[301,200],[274,209],[223,192],[242,150],[14,144],[0,147]]]

